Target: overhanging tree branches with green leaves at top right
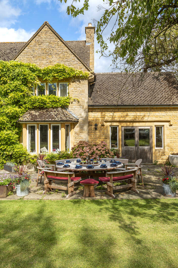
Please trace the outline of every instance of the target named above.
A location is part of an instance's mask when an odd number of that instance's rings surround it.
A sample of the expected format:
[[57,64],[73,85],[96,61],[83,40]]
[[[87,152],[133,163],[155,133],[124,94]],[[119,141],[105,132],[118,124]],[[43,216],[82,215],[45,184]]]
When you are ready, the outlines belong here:
[[[63,0],[65,3],[69,0]],[[62,0],[60,0],[62,2]],[[76,17],[88,10],[90,0],[83,1],[80,9],[67,6],[67,14]],[[101,55],[106,55],[108,44],[115,48],[109,51],[113,64],[123,71],[160,71],[167,68],[177,72],[178,46],[177,24],[178,4],[173,0],[103,0],[103,7],[96,1],[96,7],[103,10],[97,23],[96,39]],[[104,39],[109,32],[106,40]]]

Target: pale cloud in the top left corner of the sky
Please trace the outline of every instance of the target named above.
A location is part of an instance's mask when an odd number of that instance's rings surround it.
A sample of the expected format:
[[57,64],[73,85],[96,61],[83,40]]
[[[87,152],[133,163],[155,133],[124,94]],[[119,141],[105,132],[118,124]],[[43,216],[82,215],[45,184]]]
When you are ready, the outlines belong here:
[[16,22],[17,17],[21,14],[19,8],[13,7],[8,0],[0,1],[0,26],[10,26]]

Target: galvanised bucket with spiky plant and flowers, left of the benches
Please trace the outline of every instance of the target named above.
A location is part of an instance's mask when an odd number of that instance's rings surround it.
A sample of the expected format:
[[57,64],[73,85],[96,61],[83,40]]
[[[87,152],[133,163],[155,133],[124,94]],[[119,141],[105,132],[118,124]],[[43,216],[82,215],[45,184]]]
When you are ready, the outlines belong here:
[[17,175],[12,178],[13,189],[16,188],[17,196],[26,196],[29,194],[30,174],[27,174],[27,168],[22,165],[15,166]]

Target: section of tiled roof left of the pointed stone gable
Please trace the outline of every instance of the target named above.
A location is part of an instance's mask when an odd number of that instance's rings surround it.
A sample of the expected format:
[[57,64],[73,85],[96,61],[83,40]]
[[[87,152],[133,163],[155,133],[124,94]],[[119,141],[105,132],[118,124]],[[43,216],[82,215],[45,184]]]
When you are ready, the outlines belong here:
[[26,42],[0,42],[0,60],[11,61]]

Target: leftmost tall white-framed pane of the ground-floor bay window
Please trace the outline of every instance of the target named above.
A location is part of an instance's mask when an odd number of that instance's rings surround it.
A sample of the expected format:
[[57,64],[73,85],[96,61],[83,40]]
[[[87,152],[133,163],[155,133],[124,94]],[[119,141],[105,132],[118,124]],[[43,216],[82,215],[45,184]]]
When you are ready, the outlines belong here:
[[27,150],[37,152],[36,125],[27,125]]

